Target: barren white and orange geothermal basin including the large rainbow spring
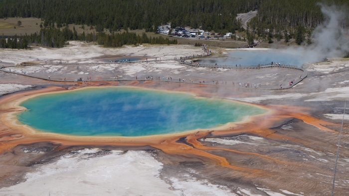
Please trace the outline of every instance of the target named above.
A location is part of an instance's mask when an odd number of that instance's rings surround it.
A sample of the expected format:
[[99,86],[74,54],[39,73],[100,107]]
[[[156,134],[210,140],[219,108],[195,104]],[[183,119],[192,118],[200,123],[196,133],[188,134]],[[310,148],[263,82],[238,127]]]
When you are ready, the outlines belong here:
[[257,47],[2,49],[0,195],[330,195],[342,119],[349,195],[349,59]]

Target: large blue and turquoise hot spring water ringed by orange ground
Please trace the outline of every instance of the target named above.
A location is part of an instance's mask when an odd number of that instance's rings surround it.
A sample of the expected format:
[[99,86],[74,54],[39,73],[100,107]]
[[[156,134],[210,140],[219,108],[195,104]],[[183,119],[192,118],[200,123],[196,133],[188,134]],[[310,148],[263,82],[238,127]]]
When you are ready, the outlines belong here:
[[127,87],[89,88],[40,95],[20,104],[22,124],[79,136],[146,136],[213,128],[264,109],[221,99],[195,98]]

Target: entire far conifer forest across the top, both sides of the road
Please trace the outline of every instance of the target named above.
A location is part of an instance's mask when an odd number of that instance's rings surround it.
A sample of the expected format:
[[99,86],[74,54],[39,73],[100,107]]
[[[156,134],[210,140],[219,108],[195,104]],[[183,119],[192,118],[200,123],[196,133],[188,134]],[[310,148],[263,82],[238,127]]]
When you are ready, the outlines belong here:
[[[0,0],[0,18],[36,17],[44,21],[44,27],[75,23],[110,31],[149,30],[171,22],[173,26],[232,32],[241,28],[237,13],[258,9],[259,26],[314,28],[328,19],[319,2],[349,5],[348,0]],[[348,27],[348,20],[341,25]]]

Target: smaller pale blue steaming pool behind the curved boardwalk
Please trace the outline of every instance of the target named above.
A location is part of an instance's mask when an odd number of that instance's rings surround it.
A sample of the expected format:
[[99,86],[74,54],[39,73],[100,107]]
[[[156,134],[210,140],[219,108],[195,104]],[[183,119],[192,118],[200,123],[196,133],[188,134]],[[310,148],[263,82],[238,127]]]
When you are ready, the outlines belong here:
[[215,58],[204,61],[227,65],[258,65],[271,62],[301,66],[306,62],[305,58],[299,54],[287,50],[234,50],[227,54],[227,58]]

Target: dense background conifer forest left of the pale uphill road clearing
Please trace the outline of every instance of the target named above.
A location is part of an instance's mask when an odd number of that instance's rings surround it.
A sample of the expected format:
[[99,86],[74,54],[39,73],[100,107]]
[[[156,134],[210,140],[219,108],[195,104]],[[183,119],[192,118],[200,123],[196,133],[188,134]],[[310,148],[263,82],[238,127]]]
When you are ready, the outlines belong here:
[[233,31],[241,27],[236,14],[259,7],[261,0],[0,0],[0,17],[41,18],[49,24],[87,24],[117,31],[173,26],[202,26]]

